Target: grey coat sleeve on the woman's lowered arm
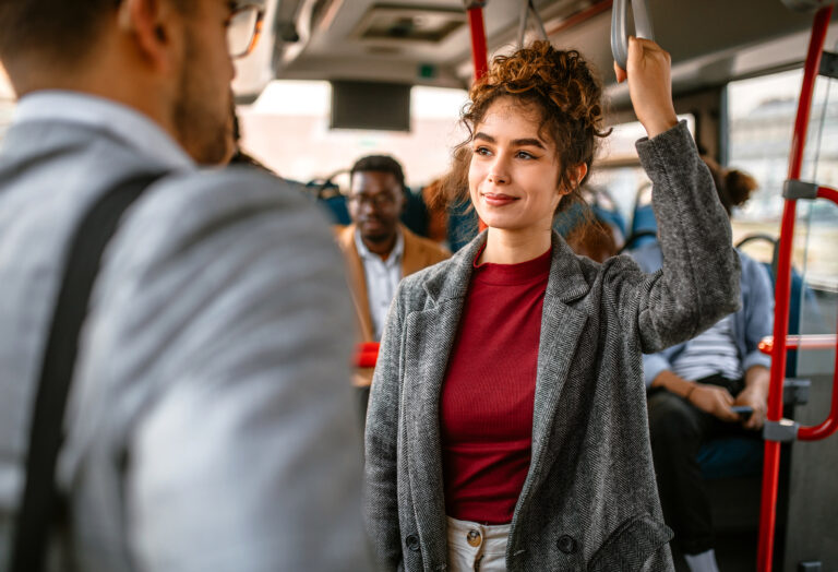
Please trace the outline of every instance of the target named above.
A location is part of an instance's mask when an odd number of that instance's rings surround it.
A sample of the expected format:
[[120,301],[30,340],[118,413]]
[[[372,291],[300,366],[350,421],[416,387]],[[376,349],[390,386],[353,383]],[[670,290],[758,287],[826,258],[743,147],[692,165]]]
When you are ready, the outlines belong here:
[[398,523],[397,451],[402,409],[404,287],[405,281],[391,303],[381,338],[364,438],[364,522],[381,570],[396,570],[403,559]]

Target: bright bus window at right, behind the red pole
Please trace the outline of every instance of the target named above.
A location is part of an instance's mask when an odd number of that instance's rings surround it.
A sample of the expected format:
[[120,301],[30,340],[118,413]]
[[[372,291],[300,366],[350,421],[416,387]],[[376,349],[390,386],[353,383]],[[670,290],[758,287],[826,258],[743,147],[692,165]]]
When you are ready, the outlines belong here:
[[[779,233],[782,183],[802,78],[802,70],[793,70],[728,85],[728,165],[750,172],[761,187],[745,207],[733,213],[735,242],[750,235],[776,237]],[[815,84],[802,171],[803,180],[833,187],[838,184],[838,109],[826,104],[836,95],[829,97],[829,82]],[[799,205],[798,215],[793,263],[805,267],[812,285],[828,288],[838,276],[838,258],[830,252],[838,243],[838,210],[827,201],[805,202]],[[763,241],[750,246],[749,253],[770,262],[773,249]]]

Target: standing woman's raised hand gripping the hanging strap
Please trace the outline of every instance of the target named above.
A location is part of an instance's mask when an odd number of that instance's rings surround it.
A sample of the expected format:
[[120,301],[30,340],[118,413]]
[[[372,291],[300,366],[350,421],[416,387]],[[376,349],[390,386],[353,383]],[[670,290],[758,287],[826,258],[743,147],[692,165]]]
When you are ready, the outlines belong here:
[[678,123],[672,104],[669,53],[650,39],[628,37],[628,57],[623,70],[614,62],[618,83],[628,80],[634,114],[649,139]]

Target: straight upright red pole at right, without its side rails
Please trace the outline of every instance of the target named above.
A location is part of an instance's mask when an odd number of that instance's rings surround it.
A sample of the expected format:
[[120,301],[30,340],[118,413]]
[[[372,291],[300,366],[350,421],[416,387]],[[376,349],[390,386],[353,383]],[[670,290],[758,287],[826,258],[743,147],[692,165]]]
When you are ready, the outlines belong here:
[[[800,178],[803,164],[803,147],[806,142],[809,116],[812,107],[812,94],[821,65],[821,53],[826,37],[826,28],[833,7],[824,7],[817,11],[812,26],[812,37],[806,55],[803,85],[800,90],[798,116],[794,122],[794,136],[789,155],[789,179]],[[786,377],[786,334],[789,331],[789,298],[791,288],[791,247],[794,239],[794,217],[797,201],[786,199],[780,227],[780,249],[777,265],[777,285],[775,291],[774,311],[774,351],[771,353],[770,388],[768,390],[769,421],[779,421],[782,416],[782,381]],[[762,511],[759,516],[759,544],[757,548],[756,569],[758,572],[771,570],[774,556],[774,529],[777,520],[777,481],[780,466],[780,443],[765,442],[763,461]]]

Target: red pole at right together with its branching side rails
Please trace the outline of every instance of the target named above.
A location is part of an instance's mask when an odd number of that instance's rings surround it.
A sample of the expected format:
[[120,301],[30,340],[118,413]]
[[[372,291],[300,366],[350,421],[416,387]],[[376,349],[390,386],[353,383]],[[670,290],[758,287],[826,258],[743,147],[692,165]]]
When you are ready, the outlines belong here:
[[[780,243],[777,263],[777,282],[774,311],[774,344],[768,389],[768,412],[763,430],[765,454],[763,462],[763,490],[759,515],[759,541],[756,569],[771,570],[774,535],[777,520],[777,487],[779,484],[780,443],[795,439],[815,440],[831,434],[838,428],[838,372],[833,389],[833,407],[826,421],[813,428],[800,428],[789,419],[782,419],[782,383],[786,377],[786,349],[789,332],[789,305],[791,295],[791,250],[798,200],[828,199],[838,203],[838,191],[814,183],[800,181],[803,147],[806,142],[809,118],[812,108],[815,79],[821,69],[826,32],[833,14],[831,5],[824,5],[815,14],[812,36],[806,53],[803,83],[800,90],[794,136],[789,153],[789,177],[783,188],[785,206],[780,226]],[[836,364],[838,368],[838,364]],[[801,429],[803,431],[801,432]]]

